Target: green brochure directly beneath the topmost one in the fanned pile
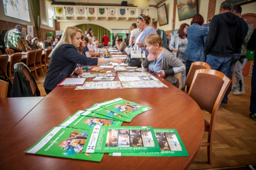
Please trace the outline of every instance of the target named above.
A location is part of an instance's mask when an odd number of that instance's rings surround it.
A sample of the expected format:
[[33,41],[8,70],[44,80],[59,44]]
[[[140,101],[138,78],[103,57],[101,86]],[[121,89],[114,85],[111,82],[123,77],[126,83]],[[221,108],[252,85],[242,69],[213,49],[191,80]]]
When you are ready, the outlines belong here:
[[117,114],[117,113],[114,113],[110,110],[107,110],[103,107],[100,107],[98,105],[93,105],[92,107],[88,108],[88,109],[85,109],[85,110],[88,110],[88,111],[91,111],[91,112],[95,112],[95,113],[98,113],[98,114],[101,114],[101,115],[105,115],[105,116],[108,116],[108,117],[111,117],[111,118],[114,118],[116,120],[120,120],[120,121],[123,121],[123,122],[131,122],[133,117],[131,118],[126,118],[120,114]]

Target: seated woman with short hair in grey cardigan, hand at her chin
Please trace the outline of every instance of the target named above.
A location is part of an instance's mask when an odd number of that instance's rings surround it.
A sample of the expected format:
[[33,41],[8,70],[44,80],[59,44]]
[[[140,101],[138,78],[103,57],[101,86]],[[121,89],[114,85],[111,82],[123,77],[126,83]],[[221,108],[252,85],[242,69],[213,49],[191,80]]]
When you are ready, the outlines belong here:
[[158,34],[151,34],[146,39],[149,55],[142,62],[141,67],[154,72],[159,77],[179,88],[176,74],[185,70],[184,64],[169,50],[162,47],[163,40]]

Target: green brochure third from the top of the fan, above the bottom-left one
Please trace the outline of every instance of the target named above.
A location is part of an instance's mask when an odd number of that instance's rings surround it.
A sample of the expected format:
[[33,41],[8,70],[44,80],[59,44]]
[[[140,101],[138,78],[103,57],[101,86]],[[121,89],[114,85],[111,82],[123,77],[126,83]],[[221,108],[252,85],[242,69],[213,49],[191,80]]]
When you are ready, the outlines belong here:
[[81,113],[83,112],[84,111],[82,110],[77,111],[74,115],[70,116],[59,126],[90,130],[92,126],[121,126],[123,123],[118,120],[102,119],[88,116],[91,115],[91,113],[88,113],[87,116],[81,115]]

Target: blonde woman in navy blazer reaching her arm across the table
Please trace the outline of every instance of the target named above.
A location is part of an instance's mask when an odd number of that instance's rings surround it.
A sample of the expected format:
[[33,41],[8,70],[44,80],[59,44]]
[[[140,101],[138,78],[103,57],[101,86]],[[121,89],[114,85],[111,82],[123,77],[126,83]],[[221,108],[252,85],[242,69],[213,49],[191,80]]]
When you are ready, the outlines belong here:
[[[48,94],[64,78],[73,73],[82,74],[82,69],[77,69],[78,64],[96,66],[103,63],[121,63],[120,58],[89,58],[77,52],[82,43],[82,31],[76,27],[67,27],[59,43],[55,46],[49,57],[49,69],[44,81],[44,89]],[[85,43],[85,42],[83,42]]]

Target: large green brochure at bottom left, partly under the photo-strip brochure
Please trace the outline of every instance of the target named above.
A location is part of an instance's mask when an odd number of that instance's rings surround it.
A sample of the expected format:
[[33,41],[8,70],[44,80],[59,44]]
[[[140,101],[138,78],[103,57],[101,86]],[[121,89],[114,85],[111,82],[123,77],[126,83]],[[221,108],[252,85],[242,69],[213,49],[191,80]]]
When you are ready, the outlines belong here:
[[84,129],[54,127],[25,152],[100,162],[103,154],[82,153],[88,132]]

